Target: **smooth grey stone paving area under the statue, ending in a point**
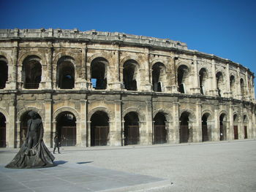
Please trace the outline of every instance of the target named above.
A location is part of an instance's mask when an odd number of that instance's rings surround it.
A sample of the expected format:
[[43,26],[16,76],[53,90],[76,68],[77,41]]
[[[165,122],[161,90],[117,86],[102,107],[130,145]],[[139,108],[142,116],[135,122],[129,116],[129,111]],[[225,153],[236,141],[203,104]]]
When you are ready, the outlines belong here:
[[135,191],[165,183],[159,177],[88,164],[56,164],[43,169],[7,169],[0,164],[0,191]]

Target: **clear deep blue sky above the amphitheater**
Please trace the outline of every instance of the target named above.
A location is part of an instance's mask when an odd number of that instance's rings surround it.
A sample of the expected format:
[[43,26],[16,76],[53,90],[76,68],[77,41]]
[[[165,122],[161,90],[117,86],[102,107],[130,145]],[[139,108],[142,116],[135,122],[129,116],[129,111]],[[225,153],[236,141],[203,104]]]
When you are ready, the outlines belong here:
[[255,0],[0,0],[0,28],[118,31],[186,42],[256,73]]

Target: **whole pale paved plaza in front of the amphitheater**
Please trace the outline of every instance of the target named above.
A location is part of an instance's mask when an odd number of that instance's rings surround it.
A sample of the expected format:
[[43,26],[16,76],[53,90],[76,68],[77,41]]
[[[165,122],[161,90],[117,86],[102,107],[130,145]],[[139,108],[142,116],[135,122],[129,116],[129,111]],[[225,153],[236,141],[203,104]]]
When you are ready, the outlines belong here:
[[61,147],[53,168],[4,168],[17,152],[0,150],[0,191],[256,191],[255,140]]

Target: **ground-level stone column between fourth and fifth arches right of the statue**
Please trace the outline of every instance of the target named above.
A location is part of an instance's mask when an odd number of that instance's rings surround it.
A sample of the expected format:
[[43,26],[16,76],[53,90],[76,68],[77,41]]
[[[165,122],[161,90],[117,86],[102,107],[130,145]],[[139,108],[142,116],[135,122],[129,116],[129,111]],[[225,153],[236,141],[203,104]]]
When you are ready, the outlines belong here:
[[170,127],[170,135],[173,143],[179,143],[179,103],[173,102],[173,126]]

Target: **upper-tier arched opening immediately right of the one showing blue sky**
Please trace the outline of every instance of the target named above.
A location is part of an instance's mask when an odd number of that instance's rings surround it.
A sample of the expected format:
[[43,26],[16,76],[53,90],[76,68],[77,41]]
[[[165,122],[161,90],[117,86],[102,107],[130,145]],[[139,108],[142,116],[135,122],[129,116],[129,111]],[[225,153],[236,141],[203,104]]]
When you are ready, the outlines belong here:
[[135,60],[128,60],[124,63],[123,80],[124,88],[127,91],[137,91],[138,88],[138,63]]

